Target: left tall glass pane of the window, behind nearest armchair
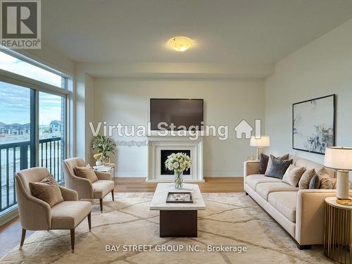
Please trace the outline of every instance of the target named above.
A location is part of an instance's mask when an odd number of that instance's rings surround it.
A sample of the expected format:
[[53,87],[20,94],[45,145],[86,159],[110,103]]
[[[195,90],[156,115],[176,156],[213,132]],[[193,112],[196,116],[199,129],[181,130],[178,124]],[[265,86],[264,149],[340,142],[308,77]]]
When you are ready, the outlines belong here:
[[0,205],[16,203],[13,174],[30,166],[31,89],[0,82]]

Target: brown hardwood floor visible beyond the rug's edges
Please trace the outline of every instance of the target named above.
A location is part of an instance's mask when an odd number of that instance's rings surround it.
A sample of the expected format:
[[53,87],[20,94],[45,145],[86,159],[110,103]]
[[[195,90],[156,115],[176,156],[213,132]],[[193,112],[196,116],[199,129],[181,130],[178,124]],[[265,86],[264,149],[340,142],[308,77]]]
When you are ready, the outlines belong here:
[[[199,183],[201,192],[240,192],[243,189],[242,177],[206,177],[206,182]],[[156,183],[146,183],[146,178],[115,178],[117,192],[153,192]],[[0,227],[0,258],[20,244],[22,227],[19,218],[15,218]],[[27,231],[26,239],[34,232]]]

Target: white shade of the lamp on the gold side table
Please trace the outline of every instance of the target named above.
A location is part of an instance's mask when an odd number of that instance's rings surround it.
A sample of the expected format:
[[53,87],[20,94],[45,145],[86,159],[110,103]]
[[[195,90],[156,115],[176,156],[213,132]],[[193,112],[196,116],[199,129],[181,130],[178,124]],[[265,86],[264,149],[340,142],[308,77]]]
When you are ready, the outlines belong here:
[[352,170],[352,148],[328,146],[325,149],[324,165],[337,170]]

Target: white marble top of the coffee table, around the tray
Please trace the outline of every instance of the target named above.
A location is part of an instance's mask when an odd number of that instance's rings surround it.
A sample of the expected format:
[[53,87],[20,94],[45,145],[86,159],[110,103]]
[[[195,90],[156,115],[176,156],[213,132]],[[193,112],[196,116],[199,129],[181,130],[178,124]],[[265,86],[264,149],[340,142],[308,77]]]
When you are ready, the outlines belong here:
[[[166,203],[166,198],[169,191],[185,192],[190,191],[193,203]],[[175,184],[172,183],[158,183],[153,199],[149,206],[150,210],[206,210],[206,203],[203,201],[201,191],[197,184],[183,184],[183,188],[175,189]]]

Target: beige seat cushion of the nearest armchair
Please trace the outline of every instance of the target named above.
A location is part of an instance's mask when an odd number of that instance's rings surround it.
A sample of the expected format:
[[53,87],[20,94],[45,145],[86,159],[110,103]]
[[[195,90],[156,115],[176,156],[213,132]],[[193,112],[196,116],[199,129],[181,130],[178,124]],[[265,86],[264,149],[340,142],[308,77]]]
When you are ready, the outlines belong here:
[[51,229],[75,228],[91,212],[89,201],[63,201],[51,208]]

